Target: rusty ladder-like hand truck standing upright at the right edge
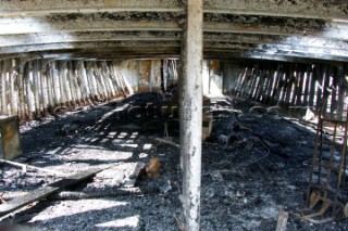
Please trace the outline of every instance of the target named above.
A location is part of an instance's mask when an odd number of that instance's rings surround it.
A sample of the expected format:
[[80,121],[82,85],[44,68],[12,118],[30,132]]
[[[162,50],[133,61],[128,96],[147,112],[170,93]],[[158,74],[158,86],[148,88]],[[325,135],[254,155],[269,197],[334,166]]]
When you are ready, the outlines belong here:
[[302,219],[323,223],[348,217],[347,102],[338,113],[327,113],[324,98],[318,118],[307,205]]

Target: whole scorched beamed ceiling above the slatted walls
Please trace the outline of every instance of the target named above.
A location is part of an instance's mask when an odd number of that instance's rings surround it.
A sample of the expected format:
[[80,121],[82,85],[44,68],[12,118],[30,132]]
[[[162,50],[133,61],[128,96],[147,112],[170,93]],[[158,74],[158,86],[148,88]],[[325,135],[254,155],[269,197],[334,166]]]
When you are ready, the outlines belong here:
[[[204,0],[208,59],[348,61],[347,0]],[[0,59],[178,56],[185,1],[2,0]]]

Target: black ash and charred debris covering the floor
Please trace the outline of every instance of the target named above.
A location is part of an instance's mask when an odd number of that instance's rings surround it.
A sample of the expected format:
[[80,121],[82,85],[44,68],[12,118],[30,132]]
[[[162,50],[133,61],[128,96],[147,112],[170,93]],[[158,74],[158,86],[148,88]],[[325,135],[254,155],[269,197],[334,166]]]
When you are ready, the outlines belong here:
[[[58,181],[64,174],[109,168],[2,217],[1,226],[179,230],[179,150],[156,140],[163,137],[166,121],[173,142],[178,143],[178,120],[175,115],[158,116],[156,105],[161,100],[152,93],[136,94],[22,126],[24,154],[15,161],[62,175],[29,168],[24,172],[1,164],[4,201]],[[290,213],[287,230],[347,230],[347,220],[316,226],[293,214],[304,205],[315,126],[290,118],[288,112],[250,111],[254,105],[236,98],[215,99],[210,105],[213,128],[202,144],[201,230],[275,230],[281,210]],[[160,158],[160,177],[140,172],[135,187],[125,188],[136,164],[148,166],[153,157]]]

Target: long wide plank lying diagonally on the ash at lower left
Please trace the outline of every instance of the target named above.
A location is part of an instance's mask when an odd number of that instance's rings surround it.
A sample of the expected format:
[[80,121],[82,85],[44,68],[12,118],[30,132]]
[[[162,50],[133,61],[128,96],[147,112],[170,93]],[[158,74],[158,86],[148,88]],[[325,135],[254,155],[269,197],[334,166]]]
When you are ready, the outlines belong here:
[[77,184],[77,183],[95,176],[97,172],[99,172],[101,170],[103,170],[103,169],[98,168],[98,169],[91,169],[91,170],[87,170],[87,171],[72,175],[65,179],[50,183],[47,187],[35,190],[24,196],[21,196],[16,200],[9,202],[9,203],[1,204],[0,205],[0,216],[4,216],[4,215],[10,214],[11,211],[14,211],[21,207],[24,207],[33,202],[42,200],[42,198],[45,198],[45,197],[47,197],[58,191],[61,191],[62,189],[64,189],[66,187]]

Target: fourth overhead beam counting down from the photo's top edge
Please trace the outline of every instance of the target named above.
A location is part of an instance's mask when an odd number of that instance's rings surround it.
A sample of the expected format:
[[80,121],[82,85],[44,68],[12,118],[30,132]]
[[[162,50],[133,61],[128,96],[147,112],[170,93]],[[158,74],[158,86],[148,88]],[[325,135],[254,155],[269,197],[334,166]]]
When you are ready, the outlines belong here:
[[[134,40],[134,41],[83,41],[83,42],[62,42],[49,44],[32,44],[32,46],[14,46],[0,48],[0,56],[11,55],[13,53],[37,53],[45,55],[46,53],[70,51],[78,53],[85,51],[95,52],[95,56],[107,55],[108,57],[129,57],[134,55],[152,56],[153,54],[179,54],[179,40]],[[263,52],[264,54],[283,55],[285,57],[308,57],[322,60],[337,60],[348,62],[348,50],[345,49],[327,49],[324,47],[311,46],[293,46],[293,44],[277,44],[277,43],[239,43],[239,42],[216,42],[204,41],[206,56],[216,56],[216,53],[222,53],[227,57],[231,53],[240,52]],[[98,54],[99,53],[99,54]],[[82,54],[83,55],[83,54]]]

